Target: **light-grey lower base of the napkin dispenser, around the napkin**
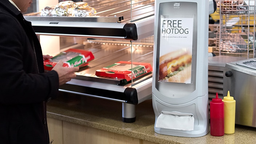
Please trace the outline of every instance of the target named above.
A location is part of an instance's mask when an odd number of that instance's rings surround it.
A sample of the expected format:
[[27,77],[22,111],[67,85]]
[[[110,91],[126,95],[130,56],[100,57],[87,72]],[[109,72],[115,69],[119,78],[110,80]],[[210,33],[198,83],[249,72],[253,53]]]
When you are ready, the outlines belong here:
[[[192,101],[181,104],[169,104],[160,100],[154,94],[152,95],[153,109],[155,112],[155,132],[162,135],[180,136],[180,137],[200,137],[209,133],[209,119],[208,119],[208,95],[198,96]],[[156,121],[164,111],[191,113],[195,118],[193,122],[193,130],[179,130],[168,129],[163,127],[156,127]],[[174,115],[172,113],[172,115]],[[177,115],[177,114],[176,114]],[[176,116],[175,115],[175,116]],[[178,115],[177,115],[178,116]],[[171,123],[167,120],[165,123]],[[184,121],[185,123],[185,121]]]

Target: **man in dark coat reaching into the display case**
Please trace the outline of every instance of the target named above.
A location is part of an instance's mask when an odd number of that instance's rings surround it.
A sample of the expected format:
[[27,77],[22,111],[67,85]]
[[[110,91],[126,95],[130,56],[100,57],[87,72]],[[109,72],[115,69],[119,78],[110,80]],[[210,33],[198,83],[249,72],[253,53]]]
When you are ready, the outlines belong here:
[[59,62],[44,72],[39,40],[24,20],[32,0],[0,0],[0,143],[49,144],[46,101],[79,68]]

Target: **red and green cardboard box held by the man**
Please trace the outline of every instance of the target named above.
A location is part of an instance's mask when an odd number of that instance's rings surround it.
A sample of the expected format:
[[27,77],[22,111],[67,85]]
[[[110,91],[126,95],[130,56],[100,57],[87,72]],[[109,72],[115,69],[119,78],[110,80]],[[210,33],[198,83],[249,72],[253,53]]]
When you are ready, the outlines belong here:
[[81,49],[68,49],[59,53],[52,59],[44,61],[44,69],[51,71],[52,68],[60,61],[63,61],[63,67],[80,67],[86,65],[89,61],[93,60],[94,56],[90,51]]

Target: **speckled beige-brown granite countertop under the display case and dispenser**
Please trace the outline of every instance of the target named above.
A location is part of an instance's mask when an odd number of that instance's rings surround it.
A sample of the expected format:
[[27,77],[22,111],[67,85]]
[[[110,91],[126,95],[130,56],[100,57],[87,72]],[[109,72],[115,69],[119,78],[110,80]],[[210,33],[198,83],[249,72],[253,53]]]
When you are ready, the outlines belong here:
[[93,97],[60,93],[47,103],[47,116],[87,127],[118,133],[159,144],[254,144],[256,128],[235,126],[235,133],[220,137],[208,133],[202,137],[177,137],[154,132],[155,114],[152,100],[136,105],[136,121],[122,121],[122,103]]

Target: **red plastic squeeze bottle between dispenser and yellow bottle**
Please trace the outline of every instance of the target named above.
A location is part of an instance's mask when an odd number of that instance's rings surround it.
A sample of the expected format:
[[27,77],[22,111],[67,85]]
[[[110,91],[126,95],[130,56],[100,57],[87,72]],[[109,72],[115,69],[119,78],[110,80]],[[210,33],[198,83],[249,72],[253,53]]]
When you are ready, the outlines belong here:
[[218,93],[210,102],[210,131],[212,136],[224,135],[224,102]]

